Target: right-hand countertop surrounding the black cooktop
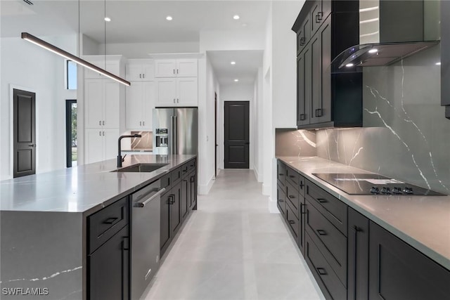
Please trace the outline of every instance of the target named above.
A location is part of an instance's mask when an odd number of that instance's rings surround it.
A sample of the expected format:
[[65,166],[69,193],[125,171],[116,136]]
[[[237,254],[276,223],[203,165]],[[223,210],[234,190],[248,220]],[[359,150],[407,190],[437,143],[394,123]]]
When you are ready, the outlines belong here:
[[450,196],[349,195],[312,173],[371,172],[321,157],[277,158],[450,270]]

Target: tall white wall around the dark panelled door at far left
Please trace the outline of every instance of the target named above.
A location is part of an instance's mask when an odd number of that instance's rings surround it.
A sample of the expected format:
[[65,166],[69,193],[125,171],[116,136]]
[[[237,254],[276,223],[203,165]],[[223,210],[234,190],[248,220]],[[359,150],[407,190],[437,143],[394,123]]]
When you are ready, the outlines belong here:
[[[72,53],[77,36],[45,37]],[[36,93],[37,173],[65,167],[65,59],[20,38],[1,39],[0,180],[12,178],[12,88]]]

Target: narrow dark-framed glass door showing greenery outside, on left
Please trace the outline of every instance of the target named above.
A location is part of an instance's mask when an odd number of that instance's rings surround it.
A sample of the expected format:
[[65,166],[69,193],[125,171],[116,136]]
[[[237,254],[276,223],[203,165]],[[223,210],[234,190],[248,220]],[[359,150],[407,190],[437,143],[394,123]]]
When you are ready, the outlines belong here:
[[65,100],[65,157],[66,167],[77,166],[77,100]]

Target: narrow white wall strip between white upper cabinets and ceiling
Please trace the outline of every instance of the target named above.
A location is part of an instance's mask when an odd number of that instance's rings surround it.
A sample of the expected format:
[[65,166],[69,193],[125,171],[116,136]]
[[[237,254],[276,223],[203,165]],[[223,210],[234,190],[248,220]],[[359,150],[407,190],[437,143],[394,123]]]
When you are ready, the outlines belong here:
[[[101,53],[105,52],[105,44],[101,44]],[[126,58],[149,58],[149,53],[198,53],[199,42],[179,43],[131,43],[131,44],[107,44],[106,54],[120,54]]]

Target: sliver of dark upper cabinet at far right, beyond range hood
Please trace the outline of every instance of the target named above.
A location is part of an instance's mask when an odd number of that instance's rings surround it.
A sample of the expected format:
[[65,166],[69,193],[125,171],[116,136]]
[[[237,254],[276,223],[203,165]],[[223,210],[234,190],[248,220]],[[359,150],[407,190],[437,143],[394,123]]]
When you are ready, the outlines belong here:
[[441,105],[450,119],[450,1],[441,1]]

